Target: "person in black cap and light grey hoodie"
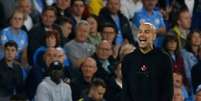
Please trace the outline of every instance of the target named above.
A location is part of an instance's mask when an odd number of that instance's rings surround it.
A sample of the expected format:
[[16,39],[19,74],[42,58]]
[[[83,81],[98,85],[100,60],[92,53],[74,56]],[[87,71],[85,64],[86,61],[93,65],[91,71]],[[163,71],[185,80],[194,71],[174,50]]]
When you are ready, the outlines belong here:
[[37,87],[35,101],[72,101],[71,88],[62,80],[63,64],[53,61],[49,70],[49,76]]

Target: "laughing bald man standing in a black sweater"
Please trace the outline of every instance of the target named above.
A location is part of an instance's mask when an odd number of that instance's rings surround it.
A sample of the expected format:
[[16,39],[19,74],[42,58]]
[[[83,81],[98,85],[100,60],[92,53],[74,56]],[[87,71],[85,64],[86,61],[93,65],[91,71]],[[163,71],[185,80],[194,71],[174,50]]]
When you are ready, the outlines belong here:
[[171,101],[172,64],[168,56],[153,47],[155,26],[141,23],[139,47],[122,63],[123,101]]

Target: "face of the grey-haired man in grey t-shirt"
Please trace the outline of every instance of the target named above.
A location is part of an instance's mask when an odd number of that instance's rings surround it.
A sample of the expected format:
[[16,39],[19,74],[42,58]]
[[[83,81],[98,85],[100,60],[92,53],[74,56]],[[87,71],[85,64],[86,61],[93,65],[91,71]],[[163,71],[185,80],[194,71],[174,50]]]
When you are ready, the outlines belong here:
[[89,34],[89,26],[81,25],[76,31],[76,40],[85,42]]

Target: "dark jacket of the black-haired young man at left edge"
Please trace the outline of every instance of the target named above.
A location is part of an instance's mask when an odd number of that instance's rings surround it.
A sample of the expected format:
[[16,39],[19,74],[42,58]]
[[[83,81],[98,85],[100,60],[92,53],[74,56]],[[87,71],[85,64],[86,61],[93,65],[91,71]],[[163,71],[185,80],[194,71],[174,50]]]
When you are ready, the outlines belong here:
[[24,92],[24,82],[20,65],[8,66],[4,59],[0,61],[0,97],[8,97]]

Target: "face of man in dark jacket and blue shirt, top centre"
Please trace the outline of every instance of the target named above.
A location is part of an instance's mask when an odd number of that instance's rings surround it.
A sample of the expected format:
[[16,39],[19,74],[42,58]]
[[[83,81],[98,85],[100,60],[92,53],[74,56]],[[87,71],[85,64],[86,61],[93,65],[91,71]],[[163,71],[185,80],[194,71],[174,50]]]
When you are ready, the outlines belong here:
[[109,0],[108,8],[111,13],[117,14],[118,11],[120,10],[120,0]]

